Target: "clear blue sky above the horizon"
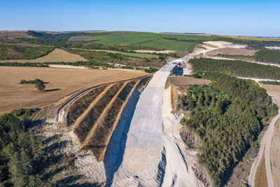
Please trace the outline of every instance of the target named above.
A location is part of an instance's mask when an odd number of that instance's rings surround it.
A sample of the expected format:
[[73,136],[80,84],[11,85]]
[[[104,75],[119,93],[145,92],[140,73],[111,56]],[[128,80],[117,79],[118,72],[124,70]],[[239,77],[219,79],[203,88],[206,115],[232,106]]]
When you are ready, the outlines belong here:
[[0,30],[280,36],[280,0],[0,0]]

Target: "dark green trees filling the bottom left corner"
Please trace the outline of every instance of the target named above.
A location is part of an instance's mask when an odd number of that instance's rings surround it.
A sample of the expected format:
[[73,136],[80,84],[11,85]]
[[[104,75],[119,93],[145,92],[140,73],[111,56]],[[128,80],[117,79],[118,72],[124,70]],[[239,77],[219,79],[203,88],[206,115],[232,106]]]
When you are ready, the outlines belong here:
[[29,130],[34,109],[0,116],[0,181],[3,186],[38,186],[43,182],[36,164],[43,155],[42,142]]

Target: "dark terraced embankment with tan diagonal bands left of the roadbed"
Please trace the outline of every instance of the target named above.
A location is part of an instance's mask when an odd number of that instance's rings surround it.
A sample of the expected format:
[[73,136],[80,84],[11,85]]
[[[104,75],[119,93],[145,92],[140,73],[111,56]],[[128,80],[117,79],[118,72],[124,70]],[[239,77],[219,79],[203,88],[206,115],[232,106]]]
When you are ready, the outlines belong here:
[[151,76],[95,88],[70,106],[66,120],[80,144],[104,159],[113,131],[134,89],[142,90]]

